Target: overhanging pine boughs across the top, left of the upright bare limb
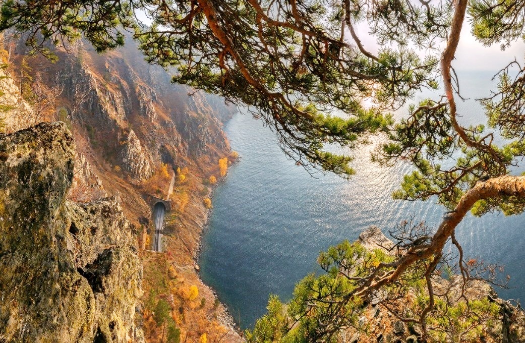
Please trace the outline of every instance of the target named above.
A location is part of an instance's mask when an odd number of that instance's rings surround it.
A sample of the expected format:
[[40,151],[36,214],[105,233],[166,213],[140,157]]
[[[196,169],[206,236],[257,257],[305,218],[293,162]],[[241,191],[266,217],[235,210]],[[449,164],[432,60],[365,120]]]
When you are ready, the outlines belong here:
[[[333,1],[297,7],[282,1],[269,18],[262,15],[274,6],[267,0],[198,4],[72,0],[54,6],[8,0],[0,29],[27,33],[27,44],[51,58],[46,39],[59,45],[83,34],[97,51],[106,51],[121,46],[130,30],[150,63],[176,68],[173,81],[246,106],[276,130],[291,158],[345,177],[354,172],[351,157],[330,145],[358,147],[367,141],[363,136],[386,130],[385,109],[401,106],[422,87],[436,87],[438,59],[422,58],[406,46],[445,37],[447,7],[413,8],[401,1],[384,16],[366,2],[346,9]],[[135,12],[146,13],[151,25],[139,25]],[[383,46],[387,41],[402,46],[371,57],[342,41],[346,21],[373,23]],[[362,105],[366,98],[374,98],[372,108]],[[334,111],[344,115],[332,116]]]

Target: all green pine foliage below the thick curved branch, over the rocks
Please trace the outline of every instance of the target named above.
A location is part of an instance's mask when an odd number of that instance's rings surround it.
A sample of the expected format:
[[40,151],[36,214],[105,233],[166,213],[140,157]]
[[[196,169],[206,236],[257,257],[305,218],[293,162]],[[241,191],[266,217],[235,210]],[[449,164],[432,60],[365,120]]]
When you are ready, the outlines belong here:
[[[247,341],[338,342],[342,329],[366,331],[369,327],[360,326],[359,318],[364,315],[371,294],[358,297],[355,291],[367,276],[394,259],[384,250],[370,251],[359,243],[344,241],[330,247],[318,258],[326,273],[318,276],[311,274],[302,279],[287,304],[271,295],[266,315],[257,320],[252,331],[246,331]],[[427,262],[414,265],[400,277],[399,282],[384,287],[381,304],[400,309],[402,312],[397,314],[406,318],[420,318],[429,304],[423,276]],[[387,266],[381,270],[388,273],[392,269]],[[445,276],[447,273],[451,277],[450,269],[444,265],[439,274]],[[468,301],[456,297],[459,295],[434,294],[432,315],[424,319],[428,342],[458,341],[459,338],[476,342],[480,337],[490,335],[489,331],[499,320],[499,305],[486,297]],[[413,326],[416,324],[416,321],[412,323]]]

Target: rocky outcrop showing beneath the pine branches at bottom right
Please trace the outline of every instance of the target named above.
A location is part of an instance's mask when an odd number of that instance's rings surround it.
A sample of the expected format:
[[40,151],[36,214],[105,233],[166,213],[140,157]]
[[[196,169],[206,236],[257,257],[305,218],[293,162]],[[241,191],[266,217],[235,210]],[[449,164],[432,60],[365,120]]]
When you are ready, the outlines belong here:
[[[393,255],[392,247],[394,243],[389,240],[376,226],[370,226],[364,230],[357,240],[367,250],[380,249],[387,255]],[[446,301],[449,306],[457,302],[463,302],[463,293],[469,301],[489,300],[490,303],[497,304],[500,308],[498,320],[490,320],[484,328],[483,342],[511,343],[525,341],[525,313],[505,300],[498,298],[492,287],[481,280],[471,280],[464,287],[463,278],[460,275],[453,275],[445,279],[433,277],[432,284],[435,294],[447,294]],[[403,317],[407,308],[414,305],[415,294],[410,292],[402,298],[402,306],[389,305],[396,313],[392,314],[381,303],[384,300],[384,293],[375,294],[372,297],[365,313],[359,319],[356,327],[349,328],[342,334],[343,341],[350,343],[417,343],[421,340],[421,333],[411,321],[400,320],[397,316]],[[437,295],[436,295],[437,297]],[[451,323],[450,325],[460,325]],[[444,342],[455,342],[455,338],[444,336]],[[465,341],[475,341],[465,340]]]

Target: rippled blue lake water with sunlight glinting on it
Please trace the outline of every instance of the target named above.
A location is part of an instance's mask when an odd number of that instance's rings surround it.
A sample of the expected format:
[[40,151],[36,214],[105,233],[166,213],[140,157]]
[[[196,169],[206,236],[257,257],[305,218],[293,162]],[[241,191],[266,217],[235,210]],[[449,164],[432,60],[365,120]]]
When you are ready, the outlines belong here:
[[[463,96],[487,96],[490,77],[460,75]],[[464,122],[475,122],[482,112],[467,101],[459,113]],[[316,258],[330,245],[354,241],[370,225],[387,233],[411,216],[436,226],[446,211],[433,201],[392,200],[411,169],[378,167],[370,162],[369,147],[355,153],[357,173],[350,181],[321,173],[316,179],[286,159],[274,133],[260,121],[237,115],[225,131],[241,159],[215,191],[199,264],[204,282],[216,289],[242,328],[265,314],[270,293],[290,299],[295,283],[318,271]],[[505,265],[515,288],[497,292],[514,299],[525,298],[524,233],[524,215],[503,214],[469,216],[456,230],[468,256]]]

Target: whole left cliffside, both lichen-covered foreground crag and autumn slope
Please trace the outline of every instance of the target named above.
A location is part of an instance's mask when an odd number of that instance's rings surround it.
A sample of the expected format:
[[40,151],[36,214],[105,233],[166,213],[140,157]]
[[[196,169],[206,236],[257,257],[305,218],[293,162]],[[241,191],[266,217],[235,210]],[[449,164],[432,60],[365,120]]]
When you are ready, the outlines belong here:
[[[19,93],[25,47],[9,72],[0,69],[0,102],[13,105],[0,109],[9,133],[0,136],[0,342],[140,342],[135,323],[149,342],[165,340],[166,330],[181,340],[240,341],[193,267],[210,196],[204,183],[230,153],[222,120],[233,108],[171,84],[132,42],[106,55],[73,50],[56,50],[56,64],[26,56],[23,70],[61,91],[36,122],[65,123],[17,131],[35,124]],[[151,239],[144,199],[164,196],[177,167],[185,179],[177,178],[178,210],[166,219],[177,230],[164,236],[165,254],[137,252]],[[154,316],[166,299],[167,329]]]

